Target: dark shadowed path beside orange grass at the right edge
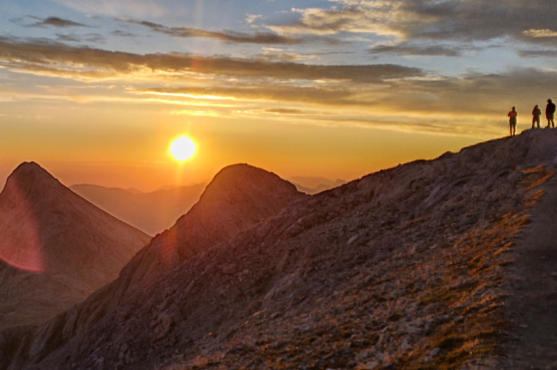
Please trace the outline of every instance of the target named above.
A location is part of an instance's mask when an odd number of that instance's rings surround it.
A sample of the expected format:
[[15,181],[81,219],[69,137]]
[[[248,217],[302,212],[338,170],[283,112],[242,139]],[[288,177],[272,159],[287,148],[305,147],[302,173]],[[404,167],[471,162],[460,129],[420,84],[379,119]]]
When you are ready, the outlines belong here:
[[[557,173],[556,166],[547,170]],[[532,223],[515,243],[502,369],[557,369],[557,175],[542,188]]]

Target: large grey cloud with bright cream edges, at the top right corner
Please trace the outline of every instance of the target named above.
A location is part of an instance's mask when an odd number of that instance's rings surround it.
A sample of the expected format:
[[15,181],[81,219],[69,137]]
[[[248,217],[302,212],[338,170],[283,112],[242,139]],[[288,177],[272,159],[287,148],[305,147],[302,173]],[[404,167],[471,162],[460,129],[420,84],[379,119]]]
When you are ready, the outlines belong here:
[[[292,9],[290,24],[269,24],[282,35],[373,33],[397,40],[485,41],[511,37],[541,42],[552,35],[557,8],[545,0],[329,0],[330,9]],[[548,32],[549,31],[549,32]],[[556,42],[553,40],[552,42]],[[545,40],[548,42],[548,40]]]

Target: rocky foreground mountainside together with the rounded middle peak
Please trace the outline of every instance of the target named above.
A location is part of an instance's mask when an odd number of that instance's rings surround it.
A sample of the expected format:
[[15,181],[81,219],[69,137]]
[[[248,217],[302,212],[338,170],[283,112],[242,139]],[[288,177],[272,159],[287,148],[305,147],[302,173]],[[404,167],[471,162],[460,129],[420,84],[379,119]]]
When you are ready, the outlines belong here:
[[0,332],[0,369],[551,369],[555,170],[532,130],[283,202],[221,173],[115,282]]

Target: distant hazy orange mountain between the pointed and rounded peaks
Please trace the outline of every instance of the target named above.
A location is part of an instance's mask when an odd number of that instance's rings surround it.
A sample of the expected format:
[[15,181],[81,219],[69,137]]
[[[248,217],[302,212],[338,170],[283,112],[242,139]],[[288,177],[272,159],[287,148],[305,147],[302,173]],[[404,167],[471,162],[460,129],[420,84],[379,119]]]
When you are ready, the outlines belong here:
[[77,184],[70,189],[120,220],[150,235],[171,227],[193,206],[207,184],[178,186],[149,193],[134,189]]

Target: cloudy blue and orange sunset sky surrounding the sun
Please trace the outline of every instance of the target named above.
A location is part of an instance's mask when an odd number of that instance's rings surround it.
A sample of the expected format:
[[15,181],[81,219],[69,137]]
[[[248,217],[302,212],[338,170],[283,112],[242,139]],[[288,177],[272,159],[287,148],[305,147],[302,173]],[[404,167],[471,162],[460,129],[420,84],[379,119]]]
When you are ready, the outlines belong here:
[[350,180],[457,152],[557,98],[555,19],[548,0],[3,0],[0,182],[23,161],[142,191],[233,163]]

